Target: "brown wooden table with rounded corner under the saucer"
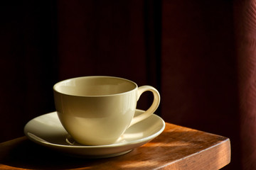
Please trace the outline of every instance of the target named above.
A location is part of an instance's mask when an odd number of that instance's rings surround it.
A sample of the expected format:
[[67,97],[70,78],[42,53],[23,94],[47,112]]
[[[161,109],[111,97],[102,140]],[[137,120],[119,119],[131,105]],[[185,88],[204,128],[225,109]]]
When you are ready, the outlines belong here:
[[164,132],[118,157],[81,159],[26,137],[0,143],[0,169],[220,169],[230,163],[227,137],[166,123]]

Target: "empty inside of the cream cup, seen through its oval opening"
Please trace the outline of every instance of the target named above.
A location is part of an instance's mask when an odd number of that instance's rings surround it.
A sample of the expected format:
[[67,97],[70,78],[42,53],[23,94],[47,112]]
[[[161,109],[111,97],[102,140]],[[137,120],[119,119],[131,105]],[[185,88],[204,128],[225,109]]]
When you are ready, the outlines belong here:
[[78,77],[60,81],[53,86],[60,94],[71,96],[107,96],[123,94],[137,88],[137,84],[118,77]]

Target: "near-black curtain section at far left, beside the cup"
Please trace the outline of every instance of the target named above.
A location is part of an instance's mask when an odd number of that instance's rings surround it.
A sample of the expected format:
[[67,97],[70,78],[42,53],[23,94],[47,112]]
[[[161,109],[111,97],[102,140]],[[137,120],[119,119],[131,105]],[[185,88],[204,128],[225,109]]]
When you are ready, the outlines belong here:
[[23,135],[28,119],[54,111],[55,14],[51,1],[9,1],[0,6],[1,142]]

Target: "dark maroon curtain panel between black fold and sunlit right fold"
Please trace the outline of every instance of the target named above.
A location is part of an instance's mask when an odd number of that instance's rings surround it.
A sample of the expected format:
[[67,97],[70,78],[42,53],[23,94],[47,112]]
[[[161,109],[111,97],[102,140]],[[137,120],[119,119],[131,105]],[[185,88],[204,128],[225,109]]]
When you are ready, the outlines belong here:
[[241,169],[242,159],[233,3],[162,1],[161,115],[230,137],[225,169]]

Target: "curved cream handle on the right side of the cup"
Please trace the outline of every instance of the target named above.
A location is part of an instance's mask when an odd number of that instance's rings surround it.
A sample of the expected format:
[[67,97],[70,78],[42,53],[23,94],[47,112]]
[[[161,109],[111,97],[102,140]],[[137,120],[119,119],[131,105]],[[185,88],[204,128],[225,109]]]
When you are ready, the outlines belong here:
[[137,115],[136,117],[132,118],[132,122],[129,125],[132,126],[135,123],[138,123],[139,121],[142,121],[146,118],[149,118],[150,115],[152,115],[154,113],[154,111],[156,111],[156,108],[158,108],[159,103],[160,103],[160,94],[159,91],[157,91],[154,87],[152,86],[139,86],[138,88],[138,94],[137,94],[137,101],[139,101],[139,97],[145,92],[145,91],[151,91],[154,95],[154,101],[151,104],[151,106],[149,107],[148,110],[146,110],[144,113],[142,113],[141,115]]

